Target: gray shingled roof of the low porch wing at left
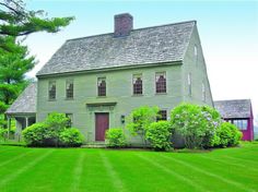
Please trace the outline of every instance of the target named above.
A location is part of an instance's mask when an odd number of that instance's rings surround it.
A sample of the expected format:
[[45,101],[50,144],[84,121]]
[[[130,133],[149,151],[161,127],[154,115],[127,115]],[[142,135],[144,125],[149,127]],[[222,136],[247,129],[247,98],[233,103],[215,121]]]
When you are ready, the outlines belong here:
[[36,113],[37,83],[30,84],[7,110],[7,115]]

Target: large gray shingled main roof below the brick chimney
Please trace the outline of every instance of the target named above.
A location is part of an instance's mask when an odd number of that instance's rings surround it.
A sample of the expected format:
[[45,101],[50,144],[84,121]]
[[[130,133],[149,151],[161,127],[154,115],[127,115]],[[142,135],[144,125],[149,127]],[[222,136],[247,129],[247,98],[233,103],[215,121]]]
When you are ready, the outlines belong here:
[[67,40],[37,75],[180,61],[195,21]]

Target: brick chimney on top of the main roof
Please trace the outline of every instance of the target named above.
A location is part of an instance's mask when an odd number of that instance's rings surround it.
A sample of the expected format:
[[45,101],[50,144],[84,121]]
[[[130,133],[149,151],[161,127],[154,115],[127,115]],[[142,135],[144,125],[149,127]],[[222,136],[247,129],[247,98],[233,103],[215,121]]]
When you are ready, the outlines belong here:
[[133,28],[133,17],[129,13],[115,15],[115,37],[124,37],[130,34]]

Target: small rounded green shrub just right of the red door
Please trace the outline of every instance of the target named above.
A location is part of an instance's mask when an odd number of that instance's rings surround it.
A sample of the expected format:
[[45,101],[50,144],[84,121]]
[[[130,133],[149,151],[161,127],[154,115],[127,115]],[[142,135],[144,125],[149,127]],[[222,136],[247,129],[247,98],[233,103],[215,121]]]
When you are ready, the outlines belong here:
[[112,128],[106,131],[106,143],[108,147],[124,147],[126,146],[126,136],[121,128]]

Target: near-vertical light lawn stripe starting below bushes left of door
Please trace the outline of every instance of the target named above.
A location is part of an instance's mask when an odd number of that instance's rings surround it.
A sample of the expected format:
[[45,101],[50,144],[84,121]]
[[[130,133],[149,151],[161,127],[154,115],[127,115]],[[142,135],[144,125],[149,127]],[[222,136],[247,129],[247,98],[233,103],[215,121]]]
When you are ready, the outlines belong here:
[[[82,172],[83,172],[83,164],[85,158],[86,152],[82,152],[79,154],[77,164],[73,169],[73,180],[71,184],[71,191],[75,192],[80,190],[80,183],[82,179]],[[86,179],[84,180],[86,182]]]

